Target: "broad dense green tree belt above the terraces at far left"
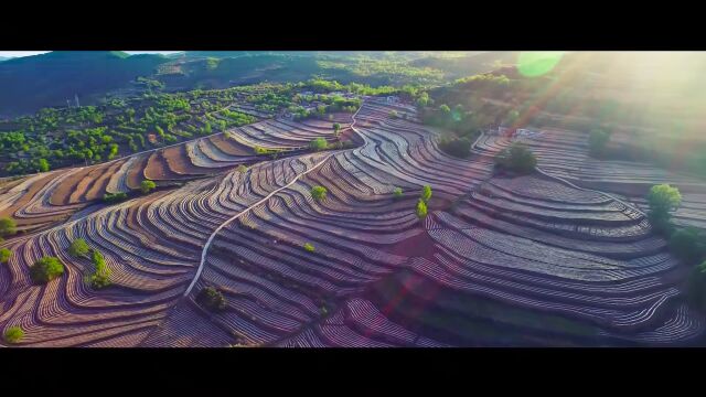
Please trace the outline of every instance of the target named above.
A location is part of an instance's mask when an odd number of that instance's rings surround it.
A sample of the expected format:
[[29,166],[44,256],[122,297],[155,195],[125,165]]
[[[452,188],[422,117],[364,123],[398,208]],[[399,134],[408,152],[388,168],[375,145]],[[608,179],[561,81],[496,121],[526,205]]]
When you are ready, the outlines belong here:
[[[156,87],[156,83],[141,83]],[[194,135],[210,135],[213,126],[224,130],[255,121],[249,115],[224,110],[217,120],[207,111],[221,109],[233,99],[229,90],[200,97],[191,93],[151,94],[126,99],[107,99],[101,106],[46,108],[33,116],[12,120],[13,130],[1,131],[0,155],[9,159],[2,172],[26,174],[50,169],[113,160],[121,151],[175,143]],[[199,117],[205,115],[205,117]],[[186,122],[192,121],[192,122]],[[148,141],[156,135],[158,139]]]

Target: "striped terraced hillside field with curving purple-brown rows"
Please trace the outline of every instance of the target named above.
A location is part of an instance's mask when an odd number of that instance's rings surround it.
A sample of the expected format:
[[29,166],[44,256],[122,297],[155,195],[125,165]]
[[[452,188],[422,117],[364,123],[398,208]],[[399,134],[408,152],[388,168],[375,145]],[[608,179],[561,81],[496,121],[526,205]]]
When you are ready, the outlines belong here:
[[[459,160],[413,107],[370,99],[354,119],[344,132],[354,149],[303,150],[334,139],[329,121],[265,120],[8,183],[2,214],[36,232],[3,244],[14,255],[0,266],[0,329],[21,325],[25,346],[680,345],[703,334],[704,318],[683,301],[684,268],[633,196],[555,178],[624,184],[610,165],[581,173],[586,137],[536,138],[546,174],[511,179],[492,173],[507,139],[483,136]],[[253,165],[242,173],[242,163]],[[179,185],[86,211],[94,195],[143,178]],[[434,194],[420,222],[424,185]],[[89,261],[66,254],[78,237],[104,254],[111,287],[83,282]],[[29,265],[44,255],[66,273],[34,286]],[[225,310],[196,303],[206,287],[223,292]]]

